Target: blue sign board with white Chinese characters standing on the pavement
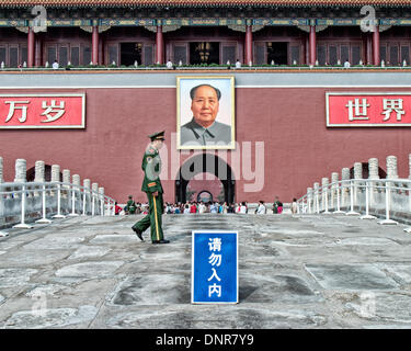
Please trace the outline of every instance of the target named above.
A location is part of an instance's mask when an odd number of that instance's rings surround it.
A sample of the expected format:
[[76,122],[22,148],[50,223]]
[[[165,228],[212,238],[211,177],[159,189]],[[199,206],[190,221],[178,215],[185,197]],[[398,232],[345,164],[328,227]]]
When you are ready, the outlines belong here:
[[192,231],[192,303],[238,303],[238,233]]

